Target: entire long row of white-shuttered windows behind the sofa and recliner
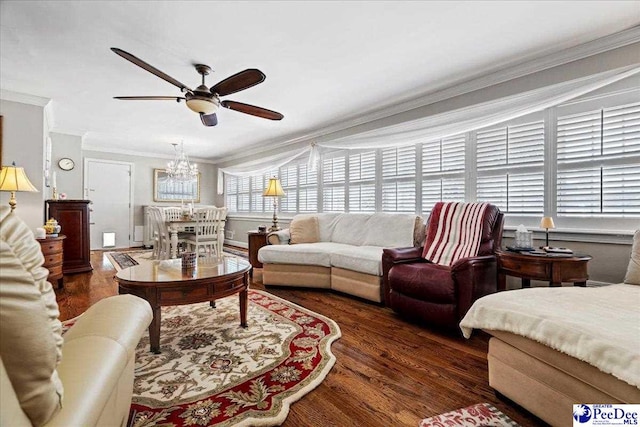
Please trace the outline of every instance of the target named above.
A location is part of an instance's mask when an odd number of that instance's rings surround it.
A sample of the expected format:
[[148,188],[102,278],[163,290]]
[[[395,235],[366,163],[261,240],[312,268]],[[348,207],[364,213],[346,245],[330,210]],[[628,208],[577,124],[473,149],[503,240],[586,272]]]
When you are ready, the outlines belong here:
[[[509,225],[537,227],[545,215],[558,228],[637,228],[637,81],[437,141],[325,151],[317,171],[306,162],[287,164],[275,171],[286,193],[280,210],[426,216],[438,201],[488,201],[508,214]],[[230,211],[269,212],[271,201],[262,197],[267,178],[228,176]]]

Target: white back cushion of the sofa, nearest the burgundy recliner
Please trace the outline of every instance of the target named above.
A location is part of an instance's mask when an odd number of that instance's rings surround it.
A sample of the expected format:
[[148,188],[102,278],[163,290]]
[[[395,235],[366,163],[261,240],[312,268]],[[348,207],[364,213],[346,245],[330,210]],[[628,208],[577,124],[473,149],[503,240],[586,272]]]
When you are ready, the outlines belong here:
[[414,243],[413,232],[416,228],[416,218],[414,214],[371,214],[366,222],[364,240],[361,245],[384,248],[411,247]]

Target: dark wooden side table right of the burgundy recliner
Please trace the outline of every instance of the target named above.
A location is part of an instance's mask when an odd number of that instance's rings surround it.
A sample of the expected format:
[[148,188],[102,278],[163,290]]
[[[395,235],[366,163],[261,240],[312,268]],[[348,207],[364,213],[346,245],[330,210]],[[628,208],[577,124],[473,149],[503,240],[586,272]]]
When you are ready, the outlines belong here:
[[589,255],[528,255],[509,251],[497,251],[496,255],[499,291],[507,288],[506,276],[520,277],[523,288],[530,287],[532,279],[548,281],[549,286],[562,286],[562,282],[573,282],[574,286],[587,285]]

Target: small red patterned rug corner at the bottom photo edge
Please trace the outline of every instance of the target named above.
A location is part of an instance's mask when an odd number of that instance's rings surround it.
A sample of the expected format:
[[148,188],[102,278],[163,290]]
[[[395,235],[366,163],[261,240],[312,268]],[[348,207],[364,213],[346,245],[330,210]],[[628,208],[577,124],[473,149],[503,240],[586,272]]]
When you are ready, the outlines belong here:
[[425,418],[420,427],[518,427],[518,424],[489,403],[478,403],[446,414]]

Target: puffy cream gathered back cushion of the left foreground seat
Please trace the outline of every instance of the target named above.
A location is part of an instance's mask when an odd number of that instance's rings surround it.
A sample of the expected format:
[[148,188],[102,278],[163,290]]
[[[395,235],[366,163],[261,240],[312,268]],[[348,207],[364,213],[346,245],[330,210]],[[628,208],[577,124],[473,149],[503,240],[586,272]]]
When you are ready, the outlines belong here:
[[22,410],[42,425],[61,408],[62,326],[33,233],[0,207],[0,356]]

